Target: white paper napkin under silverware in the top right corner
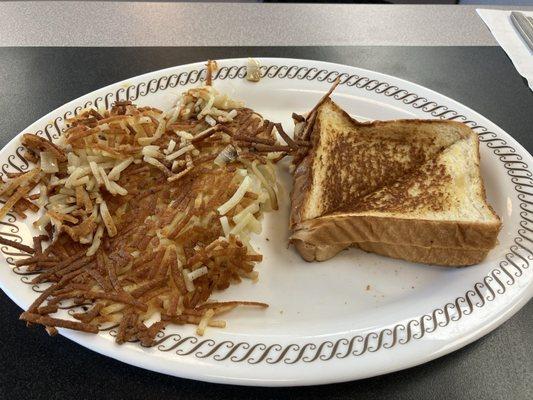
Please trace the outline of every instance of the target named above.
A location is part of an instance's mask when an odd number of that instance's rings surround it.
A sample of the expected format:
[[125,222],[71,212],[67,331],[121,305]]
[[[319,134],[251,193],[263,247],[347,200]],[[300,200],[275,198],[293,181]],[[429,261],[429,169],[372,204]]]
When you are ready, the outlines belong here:
[[[476,11],[505,50],[518,73],[527,79],[529,88],[533,90],[533,51],[527,47],[511,22],[511,11],[486,9]],[[528,17],[533,17],[533,12],[522,12]]]

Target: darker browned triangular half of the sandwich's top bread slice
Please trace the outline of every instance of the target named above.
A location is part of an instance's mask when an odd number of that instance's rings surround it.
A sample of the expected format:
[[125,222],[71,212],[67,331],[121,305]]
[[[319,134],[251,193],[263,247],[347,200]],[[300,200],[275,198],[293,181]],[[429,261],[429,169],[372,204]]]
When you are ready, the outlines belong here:
[[327,99],[317,109],[313,147],[295,172],[294,193],[304,198],[297,199],[293,219],[351,211],[365,195],[468,135],[463,124],[441,120],[361,123]]

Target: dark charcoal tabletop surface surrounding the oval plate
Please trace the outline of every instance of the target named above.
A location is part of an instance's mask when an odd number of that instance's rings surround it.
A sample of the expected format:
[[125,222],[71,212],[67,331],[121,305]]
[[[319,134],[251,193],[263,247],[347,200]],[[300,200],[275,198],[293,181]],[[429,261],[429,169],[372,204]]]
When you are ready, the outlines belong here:
[[[40,116],[112,82],[249,54],[346,63],[414,81],[471,106],[533,150],[533,95],[499,47],[0,48],[0,146]],[[0,292],[2,399],[533,398],[532,302],[484,338],[427,364],[357,382],[286,389],[144,371],[27,329],[19,314]]]

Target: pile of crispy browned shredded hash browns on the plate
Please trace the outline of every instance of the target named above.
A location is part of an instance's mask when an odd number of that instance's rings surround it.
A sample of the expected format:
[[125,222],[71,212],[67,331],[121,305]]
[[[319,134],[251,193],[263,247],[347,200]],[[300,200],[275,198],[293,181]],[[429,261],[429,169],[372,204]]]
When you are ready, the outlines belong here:
[[[0,216],[40,209],[34,225],[51,243],[43,250],[34,240],[39,247],[22,251],[35,254],[16,261],[32,284],[50,284],[22,319],[50,333],[115,326],[117,343],[151,345],[169,323],[203,335],[237,305],[267,307],[209,300],[258,278],[262,257],[249,239],[262,212],[277,208],[274,163],[292,149],[277,142],[274,123],[212,86],[216,68],[209,63],[206,86],[165,112],[117,101],[70,118],[60,144],[24,135],[40,157],[2,182]],[[62,301],[90,308],[75,321],[52,316]]]

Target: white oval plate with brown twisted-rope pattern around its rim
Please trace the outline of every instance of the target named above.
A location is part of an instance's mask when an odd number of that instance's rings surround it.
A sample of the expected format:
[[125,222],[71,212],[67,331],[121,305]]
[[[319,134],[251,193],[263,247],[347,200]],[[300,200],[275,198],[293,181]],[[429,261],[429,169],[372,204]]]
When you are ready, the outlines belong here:
[[[453,269],[388,259],[352,249],[328,262],[306,263],[287,248],[291,180],[280,167],[281,210],[269,214],[255,244],[264,255],[257,284],[216,293],[219,300],[264,301],[266,311],[240,309],[228,327],[196,337],[193,327],[171,326],[152,348],[116,345],[109,332],[60,330],[75,342],[118,360],[180,377],[242,385],[308,385],[395,371],[456,350],[513,315],[533,292],[533,179],[531,156],[512,137],[473,110],[404,80],[325,62],[265,58],[263,79],[243,79],[244,59],[219,62],[215,85],[266,118],[289,128],[293,111],[308,111],[341,76],[333,98],[356,117],[443,118],[479,134],[489,202],[503,220],[499,245],[480,265]],[[197,84],[203,64],[128,79],[80,97],[25,131],[55,138],[65,117],[82,107],[129,98],[166,109]],[[19,138],[0,153],[2,171],[24,170]],[[9,215],[0,234],[31,242],[30,221]],[[16,252],[5,246],[2,289],[27,307],[42,290],[12,271]],[[18,272],[18,274],[17,274]],[[10,321],[8,323],[18,323]],[[36,333],[37,334],[37,333]],[[497,355],[495,355],[497,357]],[[53,361],[52,361],[53,362]]]

